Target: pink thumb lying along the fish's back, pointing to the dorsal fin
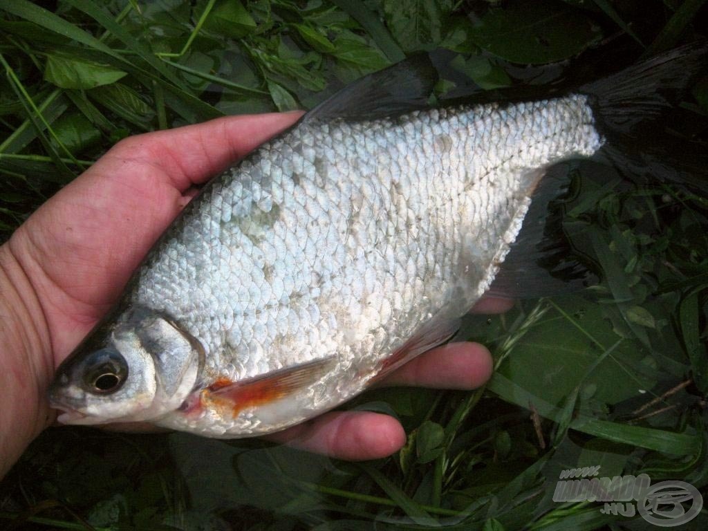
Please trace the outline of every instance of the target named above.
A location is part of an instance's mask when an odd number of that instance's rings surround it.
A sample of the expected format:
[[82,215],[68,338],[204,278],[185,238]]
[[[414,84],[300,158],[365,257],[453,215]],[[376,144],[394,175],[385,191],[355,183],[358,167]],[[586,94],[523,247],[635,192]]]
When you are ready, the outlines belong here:
[[128,137],[96,163],[101,173],[121,171],[125,162],[161,170],[183,192],[224,170],[287,129],[301,111],[217,118],[176,129]]

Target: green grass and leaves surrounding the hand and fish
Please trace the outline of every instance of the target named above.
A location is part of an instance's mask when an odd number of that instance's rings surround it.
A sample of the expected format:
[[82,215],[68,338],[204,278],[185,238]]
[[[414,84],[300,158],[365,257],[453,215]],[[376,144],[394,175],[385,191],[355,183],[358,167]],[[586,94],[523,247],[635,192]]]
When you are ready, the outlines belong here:
[[[692,40],[706,22],[701,0],[0,0],[0,230],[8,236],[127,135],[309,108],[362,74],[438,47],[457,72],[438,85],[441,96],[472,81],[493,89],[564,72],[541,66],[548,62],[588,62],[600,76]],[[598,51],[609,55],[588,59]],[[693,97],[679,108],[682,132],[704,149],[706,80]],[[552,501],[561,470],[598,464],[600,476],[646,472],[707,494],[708,200],[627,183],[597,164],[568,171],[578,193],[564,227],[600,282],[469,317],[464,336],[496,357],[485,389],[378,389],[348,404],[398,416],[409,433],[399,454],[352,464],[183,433],[50,430],[0,484],[0,527],[641,525],[603,515],[600,503]]]

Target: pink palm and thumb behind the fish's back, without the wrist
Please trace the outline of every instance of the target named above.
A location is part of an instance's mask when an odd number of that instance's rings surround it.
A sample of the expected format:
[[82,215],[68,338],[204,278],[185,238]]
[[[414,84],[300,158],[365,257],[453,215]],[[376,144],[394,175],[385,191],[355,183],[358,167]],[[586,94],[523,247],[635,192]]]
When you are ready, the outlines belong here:
[[[13,236],[35,290],[55,364],[118,299],[130,274],[202,183],[295,115],[219,120],[130,137],[35,212]],[[241,123],[243,121],[244,123]],[[265,121],[265,122],[264,122]],[[230,127],[229,127],[230,126]]]

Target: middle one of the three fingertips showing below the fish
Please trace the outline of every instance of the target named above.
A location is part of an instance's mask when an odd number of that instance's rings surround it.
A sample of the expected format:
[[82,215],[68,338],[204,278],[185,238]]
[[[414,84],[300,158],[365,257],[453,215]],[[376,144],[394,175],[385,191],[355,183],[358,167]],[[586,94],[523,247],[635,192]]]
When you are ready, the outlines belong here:
[[406,363],[380,382],[433,389],[475,389],[493,370],[489,350],[479,343],[448,343]]

